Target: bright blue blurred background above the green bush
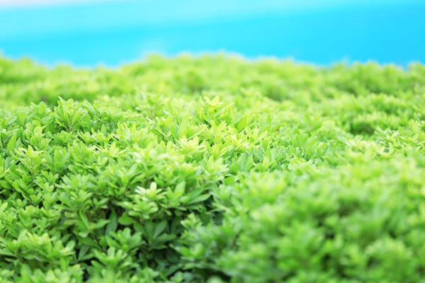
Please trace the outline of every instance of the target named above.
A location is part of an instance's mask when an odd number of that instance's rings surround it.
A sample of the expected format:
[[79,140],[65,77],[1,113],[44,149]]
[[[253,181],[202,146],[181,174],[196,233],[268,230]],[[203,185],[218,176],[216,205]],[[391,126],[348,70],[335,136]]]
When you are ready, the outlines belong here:
[[425,0],[0,0],[0,52],[47,65],[231,52],[406,66],[424,50]]

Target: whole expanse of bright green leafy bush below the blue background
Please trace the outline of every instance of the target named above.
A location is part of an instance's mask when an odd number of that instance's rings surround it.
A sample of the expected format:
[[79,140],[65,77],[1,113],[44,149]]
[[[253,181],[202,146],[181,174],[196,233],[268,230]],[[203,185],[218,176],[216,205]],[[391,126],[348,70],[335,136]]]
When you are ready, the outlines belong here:
[[0,282],[425,282],[425,67],[0,58]]

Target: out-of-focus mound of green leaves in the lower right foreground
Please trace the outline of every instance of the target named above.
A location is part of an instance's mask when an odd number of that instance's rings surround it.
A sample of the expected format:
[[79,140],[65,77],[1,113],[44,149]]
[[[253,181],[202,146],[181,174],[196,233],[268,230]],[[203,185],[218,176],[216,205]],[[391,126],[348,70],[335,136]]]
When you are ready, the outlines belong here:
[[[232,187],[232,197],[215,197],[229,209],[222,226],[184,222],[188,229],[179,250],[187,267],[222,270],[234,282],[399,281],[408,274],[415,282],[421,278],[414,270],[422,262],[414,258],[423,237],[419,223],[408,219],[419,221],[415,209],[423,197],[407,191],[421,191],[417,178],[423,173],[400,159],[327,169],[296,183],[288,183],[288,175],[246,176]],[[229,225],[235,233],[224,237]]]

